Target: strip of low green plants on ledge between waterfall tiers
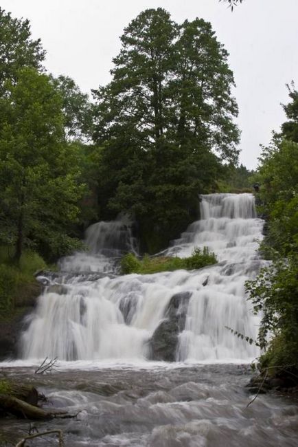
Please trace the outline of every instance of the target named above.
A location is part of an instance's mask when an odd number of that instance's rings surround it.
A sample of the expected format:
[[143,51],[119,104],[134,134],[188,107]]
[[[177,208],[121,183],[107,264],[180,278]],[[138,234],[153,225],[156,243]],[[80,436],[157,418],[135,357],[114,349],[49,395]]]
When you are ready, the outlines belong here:
[[195,270],[215,263],[217,263],[216,255],[209,252],[207,247],[204,247],[203,250],[195,248],[192,256],[188,258],[149,257],[146,255],[143,259],[139,260],[135,254],[128,253],[121,260],[121,269],[122,274],[152,274],[172,272],[179,269]]

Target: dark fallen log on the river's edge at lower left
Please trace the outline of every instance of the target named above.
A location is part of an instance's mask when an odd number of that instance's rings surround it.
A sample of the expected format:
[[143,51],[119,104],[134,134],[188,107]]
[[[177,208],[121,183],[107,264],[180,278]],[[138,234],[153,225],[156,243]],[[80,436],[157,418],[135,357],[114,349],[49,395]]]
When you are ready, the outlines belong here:
[[67,411],[46,411],[43,408],[27,404],[17,397],[11,395],[0,394],[0,408],[5,413],[10,413],[16,417],[33,420],[54,419],[55,417],[69,418],[76,415],[69,415]]

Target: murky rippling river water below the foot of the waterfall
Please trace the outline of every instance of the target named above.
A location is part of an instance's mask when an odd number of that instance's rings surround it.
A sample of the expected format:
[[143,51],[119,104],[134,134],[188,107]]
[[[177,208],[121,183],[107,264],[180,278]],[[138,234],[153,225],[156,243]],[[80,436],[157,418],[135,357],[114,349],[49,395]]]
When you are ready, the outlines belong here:
[[[296,402],[260,395],[247,408],[253,397],[244,388],[251,377],[247,366],[149,365],[98,365],[89,371],[63,366],[34,375],[33,367],[6,364],[5,372],[34,382],[49,397],[49,408],[80,411],[76,419],[34,423],[40,431],[61,428],[69,447],[297,446]],[[12,441],[29,425],[0,419],[1,433]],[[50,441],[38,438],[30,445],[57,445],[55,438]]]

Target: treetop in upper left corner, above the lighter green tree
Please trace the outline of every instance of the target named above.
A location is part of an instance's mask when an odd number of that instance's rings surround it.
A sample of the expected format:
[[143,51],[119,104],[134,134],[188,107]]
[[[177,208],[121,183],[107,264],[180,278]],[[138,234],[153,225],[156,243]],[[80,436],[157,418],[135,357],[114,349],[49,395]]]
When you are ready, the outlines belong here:
[[4,83],[7,80],[14,82],[20,68],[41,70],[44,58],[41,40],[31,39],[30,22],[12,19],[10,12],[0,8],[0,95]]

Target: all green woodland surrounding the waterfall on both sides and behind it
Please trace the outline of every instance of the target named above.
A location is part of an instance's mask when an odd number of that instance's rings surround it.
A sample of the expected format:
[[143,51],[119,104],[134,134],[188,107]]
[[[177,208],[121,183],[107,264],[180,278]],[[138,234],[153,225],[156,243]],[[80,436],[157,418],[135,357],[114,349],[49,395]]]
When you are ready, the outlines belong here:
[[287,120],[252,173],[238,165],[228,54],[203,19],[175,23],[162,8],[141,12],[121,36],[111,82],[91,97],[45,71],[29,21],[0,9],[0,41],[1,318],[22,305],[24,285],[31,293],[34,270],[82,248],[90,223],[126,213],[142,252],[152,254],[199,217],[200,193],[258,183],[268,223],[261,249],[273,261],[247,284],[255,312],[263,311],[261,366],[296,374],[295,85]]

